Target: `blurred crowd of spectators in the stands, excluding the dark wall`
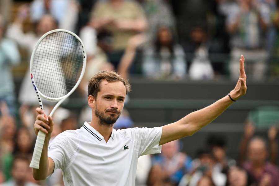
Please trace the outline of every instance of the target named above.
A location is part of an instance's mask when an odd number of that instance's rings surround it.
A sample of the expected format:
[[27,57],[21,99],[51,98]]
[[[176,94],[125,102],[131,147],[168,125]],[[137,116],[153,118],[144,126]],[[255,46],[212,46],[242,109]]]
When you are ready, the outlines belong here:
[[[87,83],[100,70],[124,78],[235,80],[244,54],[251,81],[279,77],[276,0],[1,0],[1,186],[63,185],[61,171],[38,182],[29,168],[38,99],[28,61],[38,39],[58,28],[77,33],[84,43],[86,72],[76,94],[85,100]],[[18,66],[25,76],[15,89],[12,70]],[[54,106],[44,105],[46,113]],[[53,118],[54,138],[91,121],[91,110],[60,107]],[[132,126],[123,110],[115,128]],[[139,158],[136,185],[279,186],[277,131],[270,127],[265,138],[254,136],[255,127],[247,122],[237,159],[226,155],[224,136],[208,136],[194,157],[182,152],[178,140],[170,142],[161,154]]]

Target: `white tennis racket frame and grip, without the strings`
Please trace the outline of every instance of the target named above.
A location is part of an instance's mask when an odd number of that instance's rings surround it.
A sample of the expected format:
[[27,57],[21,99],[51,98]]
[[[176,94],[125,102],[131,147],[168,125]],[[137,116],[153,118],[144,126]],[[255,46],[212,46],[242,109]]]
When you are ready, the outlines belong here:
[[[75,84],[75,86],[72,88],[71,91],[69,91],[66,95],[60,97],[60,98],[51,98],[51,97],[48,97],[46,95],[43,95],[37,88],[36,86],[36,83],[34,82],[33,80],[33,74],[32,74],[32,65],[33,65],[33,59],[34,59],[34,55],[35,55],[35,51],[37,50],[39,44],[41,43],[41,41],[49,34],[51,33],[55,33],[55,32],[66,32],[66,33],[69,33],[71,35],[73,35],[76,39],[78,39],[78,41],[81,43],[82,45],[82,48],[83,48],[83,66],[82,66],[82,71],[81,71],[81,74],[78,78],[78,81],[77,83]],[[51,113],[49,114],[49,116],[52,117],[53,113],[55,112],[55,110],[60,106],[60,104],[66,100],[72,93],[73,91],[75,91],[79,85],[79,83],[81,82],[82,80],[82,77],[85,73],[85,68],[86,68],[86,52],[85,52],[85,48],[84,48],[84,45],[83,45],[83,42],[82,40],[78,37],[78,35],[76,35],[75,33],[69,31],[69,30],[65,30],[65,29],[55,29],[55,30],[51,30],[47,33],[45,33],[44,35],[42,35],[42,37],[38,40],[38,42],[36,43],[34,49],[33,49],[33,52],[32,52],[32,55],[31,55],[31,58],[30,58],[30,73],[31,73],[31,81],[32,81],[32,84],[34,86],[34,89],[36,91],[36,94],[37,94],[37,97],[38,97],[38,101],[39,101],[39,105],[40,105],[40,108],[43,110],[43,104],[42,104],[42,99],[41,97],[43,97],[44,99],[46,100],[49,100],[49,101],[58,101],[58,103],[54,106],[54,108],[52,109]],[[29,165],[29,167],[31,168],[34,168],[34,169],[39,169],[39,165],[40,165],[40,159],[41,159],[41,155],[42,155],[42,148],[43,148],[43,145],[44,145],[44,141],[45,141],[45,137],[46,137],[46,134],[43,133],[42,131],[38,131],[38,135],[37,135],[37,139],[36,139],[36,144],[35,144],[35,148],[34,148],[34,152],[33,152],[33,156],[32,156],[32,160],[31,160],[31,163]]]

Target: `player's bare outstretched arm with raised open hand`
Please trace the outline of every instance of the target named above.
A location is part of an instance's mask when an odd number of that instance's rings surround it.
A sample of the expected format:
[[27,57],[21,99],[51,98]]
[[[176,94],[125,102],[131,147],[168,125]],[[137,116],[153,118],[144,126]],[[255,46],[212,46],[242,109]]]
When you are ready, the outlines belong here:
[[[244,61],[244,56],[241,55],[239,79],[235,88],[230,92],[230,96],[233,100],[237,100],[242,95],[246,94]],[[201,110],[192,112],[177,122],[163,126],[159,145],[193,135],[223,113],[234,102],[231,98],[226,95],[215,103],[202,108]]]

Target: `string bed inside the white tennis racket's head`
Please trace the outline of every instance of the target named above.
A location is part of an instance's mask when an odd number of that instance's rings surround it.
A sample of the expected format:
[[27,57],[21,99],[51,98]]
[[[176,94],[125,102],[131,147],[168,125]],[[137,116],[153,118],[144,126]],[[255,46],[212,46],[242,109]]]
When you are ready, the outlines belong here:
[[32,73],[38,90],[45,96],[60,98],[78,82],[82,72],[84,49],[73,35],[55,32],[38,45]]

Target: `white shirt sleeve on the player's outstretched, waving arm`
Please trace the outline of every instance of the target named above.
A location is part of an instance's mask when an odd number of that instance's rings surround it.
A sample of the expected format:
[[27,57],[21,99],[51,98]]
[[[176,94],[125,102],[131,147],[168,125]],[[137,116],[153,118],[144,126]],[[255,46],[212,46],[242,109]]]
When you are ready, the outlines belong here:
[[136,127],[129,130],[131,138],[135,141],[135,149],[139,156],[161,153],[162,146],[159,146],[159,142],[162,135],[162,127]]

